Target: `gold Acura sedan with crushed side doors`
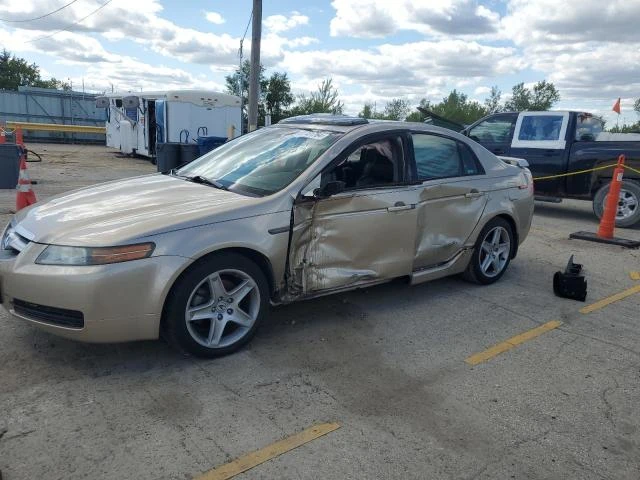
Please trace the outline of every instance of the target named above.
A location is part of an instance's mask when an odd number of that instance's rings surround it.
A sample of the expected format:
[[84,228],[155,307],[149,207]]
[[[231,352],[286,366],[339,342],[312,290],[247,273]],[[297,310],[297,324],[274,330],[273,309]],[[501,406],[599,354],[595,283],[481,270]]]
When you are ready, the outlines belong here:
[[0,244],[12,316],[88,342],[229,353],[270,304],[463,274],[498,280],[529,232],[526,162],[418,123],[302,116],[166,172],[20,211]]

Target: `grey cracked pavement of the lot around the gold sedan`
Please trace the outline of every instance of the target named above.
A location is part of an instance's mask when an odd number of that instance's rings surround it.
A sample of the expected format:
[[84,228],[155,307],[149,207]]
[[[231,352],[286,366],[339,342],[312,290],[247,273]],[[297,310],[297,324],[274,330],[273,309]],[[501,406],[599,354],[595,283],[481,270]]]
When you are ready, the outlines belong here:
[[[35,145],[38,199],[154,171],[103,147]],[[13,191],[0,191],[0,222]],[[0,310],[4,480],[191,478],[315,423],[342,427],[242,474],[267,478],[640,478],[640,294],[590,314],[552,276],[584,263],[587,303],[638,282],[640,252],[569,240],[586,202],[536,206],[495,285],[400,282],[274,309],[241,352],[86,345]],[[618,230],[640,239],[640,230]],[[550,320],[492,360],[464,360]]]

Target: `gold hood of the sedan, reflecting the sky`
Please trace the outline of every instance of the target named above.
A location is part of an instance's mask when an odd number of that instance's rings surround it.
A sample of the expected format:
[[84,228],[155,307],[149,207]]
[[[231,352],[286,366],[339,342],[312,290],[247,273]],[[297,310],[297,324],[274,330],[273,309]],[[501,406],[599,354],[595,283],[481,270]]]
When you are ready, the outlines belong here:
[[59,195],[16,215],[38,243],[106,246],[163,232],[256,215],[263,198],[168,175],[146,175]]

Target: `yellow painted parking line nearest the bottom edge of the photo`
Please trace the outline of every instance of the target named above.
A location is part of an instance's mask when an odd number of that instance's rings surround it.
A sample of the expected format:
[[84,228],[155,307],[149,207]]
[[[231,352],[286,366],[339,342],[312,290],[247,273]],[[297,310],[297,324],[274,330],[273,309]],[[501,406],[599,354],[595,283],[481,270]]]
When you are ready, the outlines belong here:
[[298,448],[305,443],[309,443],[316,438],[319,438],[327,433],[333,432],[340,428],[339,423],[321,423],[307,428],[300,433],[291,435],[278,442],[272,443],[260,450],[248,453],[241,457],[236,458],[232,462],[225,463],[219,467],[209,470],[195,477],[195,480],[226,480],[231,477],[235,477],[239,473],[246,472],[247,470],[260,465],[272,458],[275,458],[283,453],[287,453],[294,448]]

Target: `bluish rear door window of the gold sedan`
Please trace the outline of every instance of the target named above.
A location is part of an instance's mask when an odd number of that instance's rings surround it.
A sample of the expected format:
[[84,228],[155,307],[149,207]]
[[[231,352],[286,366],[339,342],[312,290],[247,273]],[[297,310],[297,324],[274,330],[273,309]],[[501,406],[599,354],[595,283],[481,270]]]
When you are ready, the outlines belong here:
[[[462,144],[450,138],[414,133],[413,151],[418,179],[433,180],[477,173],[478,167],[473,165],[473,158],[467,159],[470,164],[463,164],[465,154],[459,145]],[[473,155],[473,152],[467,153]],[[467,173],[467,168],[472,173]]]

